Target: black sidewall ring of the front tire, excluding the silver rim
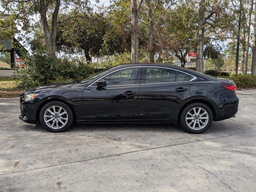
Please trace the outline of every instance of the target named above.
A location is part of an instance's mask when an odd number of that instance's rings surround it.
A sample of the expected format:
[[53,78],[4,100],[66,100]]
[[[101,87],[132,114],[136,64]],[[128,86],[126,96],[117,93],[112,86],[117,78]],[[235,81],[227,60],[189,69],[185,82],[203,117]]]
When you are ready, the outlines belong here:
[[[64,127],[60,128],[60,129],[52,129],[46,125],[46,123],[44,122],[44,112],[50,106],[60,106],[66,110],[66,112],[68,113],[68,122]],[[59,102],[59,101],[52,101],[52,102],[45,104],[42,107],[42,109],[40,110],[39,119],[40,119],[42,126],[50,132],[63,132],[65,130],[67,130],[68,128],[70,128],[70,126],[73,124],[73,121],[74,121],[73,113],[72,113],[72,110],[70,109],[70,107],[68,105],[64,104],[63,102]]]

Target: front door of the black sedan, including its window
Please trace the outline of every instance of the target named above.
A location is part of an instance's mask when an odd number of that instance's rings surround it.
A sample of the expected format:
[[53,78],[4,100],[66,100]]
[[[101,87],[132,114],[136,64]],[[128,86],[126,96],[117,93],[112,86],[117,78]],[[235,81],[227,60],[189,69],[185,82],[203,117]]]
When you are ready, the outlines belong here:
[[83,92],[85,120],[136,119],[141,71],[141,67],[117,70],[103,77],[105,87],[97,87],[96,82],[86,87]]

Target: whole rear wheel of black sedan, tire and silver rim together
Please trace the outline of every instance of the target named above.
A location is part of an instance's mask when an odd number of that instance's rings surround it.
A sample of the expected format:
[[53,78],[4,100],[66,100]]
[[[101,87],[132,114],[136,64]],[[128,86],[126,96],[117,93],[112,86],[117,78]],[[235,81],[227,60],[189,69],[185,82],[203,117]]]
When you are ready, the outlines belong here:
[[187,132],[200,134],[208,130],[212,124],[212,110],[203,103],[189,104],[180,116],[180,126]]

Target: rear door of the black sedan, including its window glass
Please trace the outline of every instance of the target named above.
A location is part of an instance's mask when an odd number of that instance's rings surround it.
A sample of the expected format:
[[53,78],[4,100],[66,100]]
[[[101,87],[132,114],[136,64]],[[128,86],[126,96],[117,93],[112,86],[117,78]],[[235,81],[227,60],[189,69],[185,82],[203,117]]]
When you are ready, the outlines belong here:
[[190,75],[162,67],[143,67],[138,119],[168,119],[177,113],[190,90]]

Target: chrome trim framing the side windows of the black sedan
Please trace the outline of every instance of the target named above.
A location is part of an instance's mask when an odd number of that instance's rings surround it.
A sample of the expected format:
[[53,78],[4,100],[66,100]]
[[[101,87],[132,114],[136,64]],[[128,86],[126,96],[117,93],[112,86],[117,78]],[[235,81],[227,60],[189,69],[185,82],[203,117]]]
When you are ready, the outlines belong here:
[[[143,83],[143,84],[132,84],[132,85],[110,85],[110,86],[106,86],[106,87],[116,87],[116,86],[137,86],[137,85],[150,85],[150,84],[166,84],[166,83],[184,83],[184,82],[191,82],[191,81],[194,81],[197,79],[196,76],[194,75],[191,75],[189,73],[186,73],[186,72],[183,72],[183,71],[180,71],[180,70],[177,70],[177,69],[171,69],[171,68],[167,68],[167,67],[158,67],[158,66],[136,66],[136,67],[126,67],[126,68],[121,68],[121,69],[118,69],[118,70],[115,70],[111,73],[108,73],[106,75],[104,75],[103,77],[97,79],[96,81],[98,80],[101,80],[102,78],[114,73],[114,72],[117,72],[117,71],[120,71],[120,70],[123,70],[123,69],[130,69],[130,68],[140,68],[140,67],[148,67],[148,68],[163,68],[163,69],[168,69],[168,70],[174,70],[174,71],[178,71],[178,72],[181,72],[181,73],[184,73],[184,74],[187,74],[187,75],[190,75],[192,76],[193,78],[190,80],[190,81],[180,81],[180,82],[159,82],[159,83]],[[94,84],[96,81],[92,82],[90,85],[88,85],[88,87],[97,87],[97,86],[92,86],[92,84]]]

